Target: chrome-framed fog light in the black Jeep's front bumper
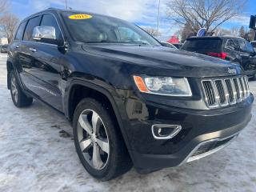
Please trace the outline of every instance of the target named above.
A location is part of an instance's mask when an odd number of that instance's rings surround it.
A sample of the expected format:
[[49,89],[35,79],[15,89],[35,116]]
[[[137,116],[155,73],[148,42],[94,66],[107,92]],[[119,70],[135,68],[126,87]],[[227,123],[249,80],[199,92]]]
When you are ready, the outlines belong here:
[[182,130],[182,126],[155,124],[151,129],[155,139],[170,139],[174,138]]

